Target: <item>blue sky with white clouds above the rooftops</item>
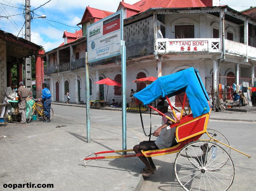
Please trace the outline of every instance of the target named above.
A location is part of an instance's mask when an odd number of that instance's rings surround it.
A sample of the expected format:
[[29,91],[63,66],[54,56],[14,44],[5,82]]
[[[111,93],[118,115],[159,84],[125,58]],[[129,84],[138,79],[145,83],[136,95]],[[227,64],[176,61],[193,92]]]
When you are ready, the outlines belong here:
[[[31,42],[43,46],[45,51],[60,46],[64,39],[63,32],[80,30],[87,6],[110,12],[116,12],[121,0],[30,0],[30,10],[34,12],[31,20]],[[134,4],[139,0],[124,0]],[[24,38],[25,0],[0,0],[0,30]],[[42,5],[42,6],[41,6]],[[255,7],[255,0],[221,0],[221,5],[228,5],[237,11]],[[45,19],[36,18],[46,15]],[[80,27],[82,27],[80,25]]]

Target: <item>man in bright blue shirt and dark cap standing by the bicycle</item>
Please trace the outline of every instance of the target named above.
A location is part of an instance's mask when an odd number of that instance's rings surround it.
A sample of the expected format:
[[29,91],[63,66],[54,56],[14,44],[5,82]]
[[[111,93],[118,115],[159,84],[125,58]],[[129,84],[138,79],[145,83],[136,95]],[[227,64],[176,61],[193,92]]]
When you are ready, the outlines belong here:
[[49,89],[46,88],[46,83],[42,84],[42,102],[43,108],[45,110],[45,115],[47,117],[47,120],[45,120],[45,122],[51,122],[51,92]]

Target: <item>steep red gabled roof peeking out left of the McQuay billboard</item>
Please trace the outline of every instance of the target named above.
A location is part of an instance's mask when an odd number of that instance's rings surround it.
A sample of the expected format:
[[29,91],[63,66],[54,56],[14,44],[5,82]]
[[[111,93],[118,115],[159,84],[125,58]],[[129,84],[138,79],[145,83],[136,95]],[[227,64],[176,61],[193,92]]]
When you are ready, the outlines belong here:
[[[85,22],[88,22],[89,20],[93,20],[95,19],[96,21],[103,19],[109,15],[113,14],[113,12],[109,12],[109,11],[103,11],[100,9],[95,9],[92,7],[86,7],[85,11],[84,11],[84,15],[81,19],[81,22],[78,23],[77,25],[83,24]],[[96,21],[93,21],[93,23],[95,23]]]

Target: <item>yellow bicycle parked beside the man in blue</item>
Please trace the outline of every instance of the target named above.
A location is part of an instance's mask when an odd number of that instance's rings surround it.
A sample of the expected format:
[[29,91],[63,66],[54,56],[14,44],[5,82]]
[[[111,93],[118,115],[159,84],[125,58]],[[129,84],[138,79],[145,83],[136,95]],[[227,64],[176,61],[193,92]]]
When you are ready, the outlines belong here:
[[[41,117],[43,116],[43,119],[46,120],[47,117],[45,115],[45,111],[43,110],[43,105],[41,104],[38,104],[37,101],[40,101],[40,100],[36,100],[35,98],[31,97],[32,100],[34,100],[34,104],[33,106],[30,108],[29,112],[28,112],[28,116],[27,116],[27,122],[29,123],[32,119],[32,116],[34,114],[36,114],[36,112],[38,113],[38,117]],[[38,107],[37,107],[38,106]],[[38,109],[39,108],[39,109]],[[53,118],[53,115],[54,115],[54,112],[53,112],[53,108],[51,108],[51,118]]]

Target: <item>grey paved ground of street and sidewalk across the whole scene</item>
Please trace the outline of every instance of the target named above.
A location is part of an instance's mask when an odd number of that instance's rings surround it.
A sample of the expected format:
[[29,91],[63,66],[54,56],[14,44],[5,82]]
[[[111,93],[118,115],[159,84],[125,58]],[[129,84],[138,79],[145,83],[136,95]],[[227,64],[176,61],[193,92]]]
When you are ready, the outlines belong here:
[[[182,190],[173,176],[175,154],[155,157],[158,169],[145,181],[140,174],[144,165],[137,157],[92,160],[85,167],[79,159],[93,152],[122,149],[122,112],[91,109],[91,143],[87,143],[86,110],[83,105],[75,106],[52,104],[54,117],[50,123],[38,118],[24,125],[0,125],[0,190],[14,190],[14,184],[30,183],[51,184],[54,187],[15,190]],[[208,128],[219,130],[228,138],[230,145],[252,155],[248,159],[232,151],[236,171],[230,190],[251,191],[256,186],[255,123],[248,121],[254,120],[255,113],[212,112],[211,116],[214,120],[210,120]],[[150,115],[146,113],[142,117],[145,129],[149,131]],[[230,121],[232,118],[234,120]],[[161,117],[153,114],[153,130],[160,124]],[[146,139],[139,114],[127,112],[127,148],[131,149]],[[11,185],[12,188],[5,188],[5,185]],[[145,187],[147,185],[149,188]]]

